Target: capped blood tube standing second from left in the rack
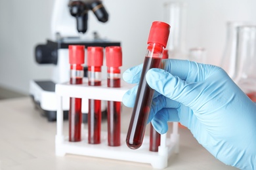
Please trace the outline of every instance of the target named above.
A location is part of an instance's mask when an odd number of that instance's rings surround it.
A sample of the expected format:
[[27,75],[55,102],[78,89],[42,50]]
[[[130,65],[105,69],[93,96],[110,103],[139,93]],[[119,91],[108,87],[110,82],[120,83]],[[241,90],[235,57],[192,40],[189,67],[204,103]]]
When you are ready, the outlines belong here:
[[[101,67],[103,64],[103,48],[89,46],[87,48],[88,85],[101,86]],[[101,101],[89,99],[88,111],[88,143],[100,143]]]

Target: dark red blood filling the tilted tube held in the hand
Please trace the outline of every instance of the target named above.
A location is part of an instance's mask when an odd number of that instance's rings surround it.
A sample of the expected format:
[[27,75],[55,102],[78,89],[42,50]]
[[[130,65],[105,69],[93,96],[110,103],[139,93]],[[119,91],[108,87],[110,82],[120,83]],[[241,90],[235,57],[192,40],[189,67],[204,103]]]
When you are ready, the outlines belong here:
[[135,99],[135,106],[133,108],[133,114],[131,116],[131,122],[127,132],[126,143],[129,148],[137,149],[141,146],[144,133],[146,129],[146,122],[148,120],[148,114],[150,111],[150,105],[152,103],[152,97],[154,90],[146,83],[146,72],[151,68],[159,68],[161,58],[144,59],[144,65],[140,76],[138,92]]

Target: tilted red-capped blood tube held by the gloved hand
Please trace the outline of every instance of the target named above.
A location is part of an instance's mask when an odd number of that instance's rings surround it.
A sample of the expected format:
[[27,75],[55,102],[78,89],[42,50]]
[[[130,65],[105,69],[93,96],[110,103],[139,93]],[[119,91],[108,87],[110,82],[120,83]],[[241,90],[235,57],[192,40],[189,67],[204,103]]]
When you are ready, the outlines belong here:
[[138,92],[135,99],[135,106],[131,116],[131,122],[126,137],[126,144],[129,148],[137,149],[144,139],[146,122],[150,112],[154,90],[146,83],[146,72],[151,68],[160,68],[163,50],[166,47],[169,37],[170,25],[165,22],[153,22],[148,36],[148,47]]

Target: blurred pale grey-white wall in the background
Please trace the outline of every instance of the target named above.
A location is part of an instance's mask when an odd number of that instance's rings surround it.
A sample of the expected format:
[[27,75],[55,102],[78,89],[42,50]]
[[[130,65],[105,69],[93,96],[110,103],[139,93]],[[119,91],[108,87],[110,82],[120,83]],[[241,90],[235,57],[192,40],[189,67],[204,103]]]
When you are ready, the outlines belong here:
[[[87,35],[121,41],[122,71],[142,63],[150,25],[163,20],[168,0],[104,0],[110,14],[102,24],[89,15]],[[178,0],[179,1],[179,0]],[[207,63],[219,65],[227,21],[255,22],[255,0],[187,0],[186,46],[207,49]],[[29,81],[49,79],[53,65],[38,65],[33,55],[38,43],[51,38],[53,0],[0,1],[0,86],[28,94]],[[75,25],[70,25],[74,27]]]

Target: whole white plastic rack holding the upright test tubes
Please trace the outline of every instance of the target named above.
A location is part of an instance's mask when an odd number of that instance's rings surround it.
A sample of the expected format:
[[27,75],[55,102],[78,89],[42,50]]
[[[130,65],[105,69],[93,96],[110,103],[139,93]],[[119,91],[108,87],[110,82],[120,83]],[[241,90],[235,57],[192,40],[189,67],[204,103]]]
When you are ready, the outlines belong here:
[[87,129],[82,129],[83,139],[80,142],[69,142],[68,137],[63,133],[63,110],[62,101],[64,97],[77,97],[82,99],[100,99],[104,101],[121,101],[127,90],[134,85],[121,82],[121,88],[108,88],[107,81],[102,81],[102,86],[88,86],[86,80],[83,84],[56,84],[55,93],[57,96],[57,119],[55,154],[65,156],[66,154],[76,154],[81,156],[92,156],[98,158],[108,158],[114,160],[134,161],[139,163],[150,163],[156,169],[167,167],[171,154],[179,152],[178,123],[173,123],[173,132],[170,137],[167,134],[161,135],[161,144],[158,152],[149,150],[148,136],[144,137],[142,146],[137,150],[128,148],[125,143],[126,134],[121,134],[121,146],[108,146],[108,134],[101,131],[100,144],[88,144]]

